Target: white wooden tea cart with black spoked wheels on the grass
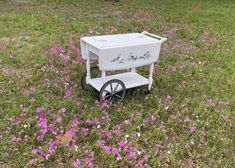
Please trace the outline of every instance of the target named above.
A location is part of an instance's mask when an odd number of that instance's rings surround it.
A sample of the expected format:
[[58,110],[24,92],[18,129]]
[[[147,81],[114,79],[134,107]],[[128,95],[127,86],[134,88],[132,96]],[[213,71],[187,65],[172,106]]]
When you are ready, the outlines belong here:
[[[126,89],[153,83],[154,63],[158,60],[161,44],[166,38],[148,33],[91,36],[81,38],[82,58],[87,71],[81,79],[82,88],[91,85],[99,91],[100,101],[121,101]],[[98,66],[91,67],[97,60]],[[149,77],[136,72],[137,67],[150,65]],[[128,70],[125,73],[107,76],[107,71]],[[130,70],[130,71],[129,71]],[[101,76],[97,73],[101,71]]]

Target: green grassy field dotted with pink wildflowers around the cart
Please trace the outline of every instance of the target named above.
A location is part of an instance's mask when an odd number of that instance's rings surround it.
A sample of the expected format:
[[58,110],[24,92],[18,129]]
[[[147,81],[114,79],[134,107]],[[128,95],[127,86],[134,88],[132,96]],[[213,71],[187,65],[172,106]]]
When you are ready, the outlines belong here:
[[[233,0],[0,0],[0,167],[235,167],[234,11]],[[111,105],[81,89],[80,37],[143,30],[168,38],[151,94]]]

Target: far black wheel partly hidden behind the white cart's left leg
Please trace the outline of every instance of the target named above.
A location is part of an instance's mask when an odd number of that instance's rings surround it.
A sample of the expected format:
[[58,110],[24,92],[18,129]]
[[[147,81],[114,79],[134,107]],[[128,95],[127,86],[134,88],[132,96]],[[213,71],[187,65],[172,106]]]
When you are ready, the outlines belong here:
[[[87,71],[82,74],[81,86],[82,86],[83,90],[88,91],[90,86],[86,84],[86,74],[87,74]],[[91,69],[90,69],[90,76],[91,76],[91,78],[101,77],[101,71],[99,70],[98,66],[91,67]]]

